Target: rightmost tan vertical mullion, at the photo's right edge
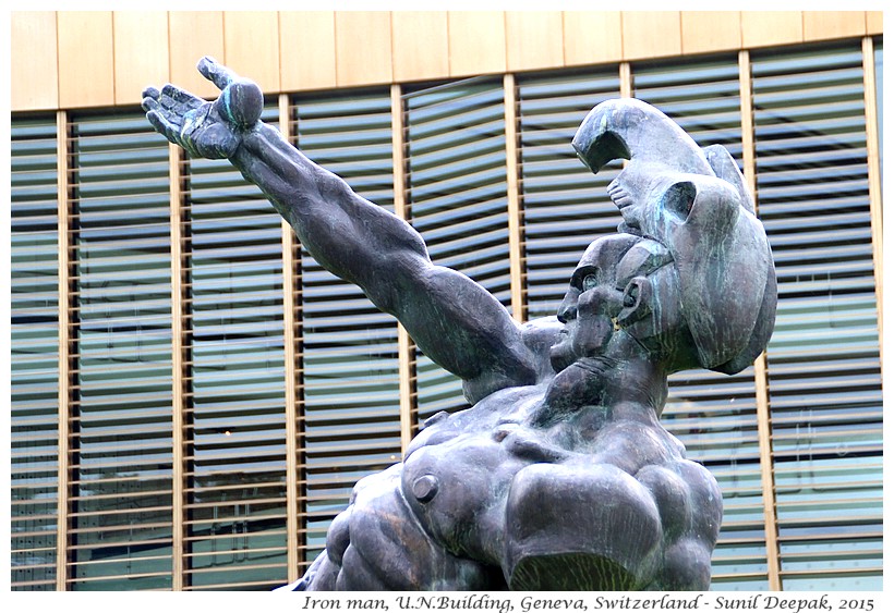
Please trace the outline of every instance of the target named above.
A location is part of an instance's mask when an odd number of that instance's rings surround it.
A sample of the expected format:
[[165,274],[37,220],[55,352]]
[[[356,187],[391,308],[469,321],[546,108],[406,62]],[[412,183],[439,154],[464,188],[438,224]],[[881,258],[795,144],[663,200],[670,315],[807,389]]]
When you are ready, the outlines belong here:
[[[875,105],[875,58],[872,37],[862,39],[863,106],[866,108],[866,150],[869,172],[869,219],[872,234],[872,262],[875,275],[875,304],[879,314],[879,339],[884,339],[882,316],[883,253],[882,253],[882,183],[881,152],[879,150],[879,120]],[[884,343],[879,343],[879,365],[882,365]]]

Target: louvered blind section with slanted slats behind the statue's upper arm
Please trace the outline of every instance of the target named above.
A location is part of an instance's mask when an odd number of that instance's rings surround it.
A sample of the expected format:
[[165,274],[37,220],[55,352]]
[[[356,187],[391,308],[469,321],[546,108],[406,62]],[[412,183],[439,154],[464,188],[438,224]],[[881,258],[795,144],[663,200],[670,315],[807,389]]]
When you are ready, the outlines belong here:
[[[403,96],[407,200],[432,261],[507,308],[509,225],[502,82],[473,78]],[[415,354],[419,422],[468,406],[459,379]]]

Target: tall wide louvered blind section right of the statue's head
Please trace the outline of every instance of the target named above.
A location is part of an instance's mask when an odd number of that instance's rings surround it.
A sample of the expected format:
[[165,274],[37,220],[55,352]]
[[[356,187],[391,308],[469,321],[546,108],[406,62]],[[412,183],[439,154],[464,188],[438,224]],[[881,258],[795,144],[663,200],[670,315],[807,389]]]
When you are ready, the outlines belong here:
[[754,53],[758,199],[784,589],[881,589],[882,397],[862,57]]

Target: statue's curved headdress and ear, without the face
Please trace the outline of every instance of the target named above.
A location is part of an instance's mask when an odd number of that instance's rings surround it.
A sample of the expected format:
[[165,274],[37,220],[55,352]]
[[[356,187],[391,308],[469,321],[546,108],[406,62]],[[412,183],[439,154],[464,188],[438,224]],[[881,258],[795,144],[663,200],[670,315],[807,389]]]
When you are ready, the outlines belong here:
[[699,148],[635,99],[597,106],[572,144],[593,172],[630,160],[608,186],[624,219],[618,230],[640,237],[615,267],[625,285],[616,324],[673,370],[733,373],[751,364],[773,331],[776,278],[728,151]]

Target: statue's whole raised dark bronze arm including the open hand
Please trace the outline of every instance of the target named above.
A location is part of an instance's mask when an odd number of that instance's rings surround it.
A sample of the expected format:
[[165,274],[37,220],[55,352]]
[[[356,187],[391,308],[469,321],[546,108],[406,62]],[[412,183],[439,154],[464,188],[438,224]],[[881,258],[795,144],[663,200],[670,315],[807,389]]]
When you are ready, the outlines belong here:
[[198,71],[220,88],[208,102],[173,85],[148,88],[152,125],[192,157],[227,158],[257,185],[327,270],[397,317],[420,348],[463,380],[475,402],[530,384],[537,365],[521,328],[468,277],[432,263],[422,237],[365,200],[259,121],[261,89],[210,58]]

